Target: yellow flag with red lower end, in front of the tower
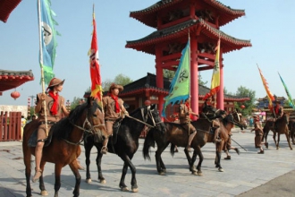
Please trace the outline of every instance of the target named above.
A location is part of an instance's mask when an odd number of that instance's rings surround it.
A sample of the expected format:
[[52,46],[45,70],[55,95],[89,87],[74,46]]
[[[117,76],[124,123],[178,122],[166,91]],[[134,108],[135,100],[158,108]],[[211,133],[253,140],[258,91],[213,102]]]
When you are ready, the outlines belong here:
[[213,69],[212,79],[211,79],[211,90],[206,93],[204,100],[215,95],[220,90],[220,38],[218,39],[217,46],[215,47],[215,65]]

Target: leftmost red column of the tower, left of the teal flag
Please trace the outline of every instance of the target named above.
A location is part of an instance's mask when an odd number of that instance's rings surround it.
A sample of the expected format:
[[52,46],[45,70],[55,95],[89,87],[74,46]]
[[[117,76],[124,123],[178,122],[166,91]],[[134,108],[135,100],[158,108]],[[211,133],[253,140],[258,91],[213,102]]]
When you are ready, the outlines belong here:
[[[162,69],[162,48],[161,47],[156,47],[156,87],[164,89],[164,76],[163,76],[163,69]],[[158,100],[159,100],[159,105],[158,105],[158,110],[160,112],[160,115],[163,110],[163,105],[164,105],[164,95],[158,95]]]

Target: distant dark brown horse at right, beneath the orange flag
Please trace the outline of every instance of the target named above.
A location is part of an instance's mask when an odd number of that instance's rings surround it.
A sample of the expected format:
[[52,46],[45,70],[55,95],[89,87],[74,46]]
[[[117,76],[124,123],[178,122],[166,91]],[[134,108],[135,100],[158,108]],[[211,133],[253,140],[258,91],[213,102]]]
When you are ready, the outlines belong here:
[[[272,131],[274,133],[273,138],[274,138],[274,143],[276,146],[276,150],[279,150],[279,142],[280,142],[280,135],[281,134],[285,134],[289,147],[291,150],[291,142],[290,142],[290,135],[289,135],[289,129],[288,129],[288,122],[289,122],[289,113],[283,113],[281,118],[278,118],[276,120],[276,125],[277,128],[274,128],[274,121],[273,120],[267,120],[265,122],[265,126],[263,127],[263,140],[265,139],[265,142],[267,142],[267,135],[269,133],[269,131]],[[278,141],[275,140],[276,137],[276,133],[278,133]]]

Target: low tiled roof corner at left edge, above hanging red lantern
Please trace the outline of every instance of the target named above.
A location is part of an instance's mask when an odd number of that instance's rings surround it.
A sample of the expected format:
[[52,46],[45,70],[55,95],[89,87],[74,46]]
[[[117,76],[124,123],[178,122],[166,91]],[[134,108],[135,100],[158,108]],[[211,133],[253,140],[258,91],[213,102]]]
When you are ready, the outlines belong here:
[[0,70],[0,92],[14,89],[27,81],[33,81],[32,71]]

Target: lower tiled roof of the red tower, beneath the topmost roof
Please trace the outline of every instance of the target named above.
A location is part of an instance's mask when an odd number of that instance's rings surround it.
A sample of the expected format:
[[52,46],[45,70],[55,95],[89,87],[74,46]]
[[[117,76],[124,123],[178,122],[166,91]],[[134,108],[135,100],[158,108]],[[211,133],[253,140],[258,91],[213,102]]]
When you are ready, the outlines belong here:
[[189,31],[190,33],[192,33],[196,31],[198,27],[201,28],[201,35],[209,39],[217,40],[220,36],[223,53],[228,53],[232,50],[240,49],[242,47],[252,46],[250,40],[233,38],[232,36],[224,33],[222,30],[217,30],[214,27],[210,26],[203,19],[194,19],[190,21],[184,21],[180,24],[174,25],[173,27],[169,27],[164,30],[156,30],[142,39],[127,41],[125,47],[135,48],[137,50],[146,52],[147,54],[155,55],[155,45],[157,43],[162,43],[163,41],[187,36]]

